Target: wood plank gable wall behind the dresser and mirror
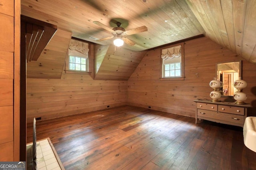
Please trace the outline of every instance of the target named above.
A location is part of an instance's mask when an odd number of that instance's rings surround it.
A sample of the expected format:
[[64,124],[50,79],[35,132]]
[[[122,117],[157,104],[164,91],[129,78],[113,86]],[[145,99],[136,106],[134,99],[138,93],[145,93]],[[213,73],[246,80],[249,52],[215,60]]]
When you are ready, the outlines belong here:
[[[160,81],[160,49],[148,51],[128,80],[128,104],[195,117],[198,98],[211,99],[209,82],[215,76],[216,63],[242,60],[232,51],[214,43],[207,37],[184,42],[185,80]],[[254,108],[248,115],[256,115],[256,66],[242,62],[242,79],[247,82],[243,90],[246,102]],[[227,100],[221,98],[220,100]]]

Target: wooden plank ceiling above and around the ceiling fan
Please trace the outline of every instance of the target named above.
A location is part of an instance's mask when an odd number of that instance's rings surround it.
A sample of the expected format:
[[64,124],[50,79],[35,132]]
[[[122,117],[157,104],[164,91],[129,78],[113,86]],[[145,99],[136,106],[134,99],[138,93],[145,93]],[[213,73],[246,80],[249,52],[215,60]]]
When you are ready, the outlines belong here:
[[21,0],[21,13],[69,31],[72,37],[95,41],[112,34],[93,21],[126,30],[145,25],[148,31],[128,35],[143,51],[204,34],[216,43],[256,63],[256,1],[254,0]]

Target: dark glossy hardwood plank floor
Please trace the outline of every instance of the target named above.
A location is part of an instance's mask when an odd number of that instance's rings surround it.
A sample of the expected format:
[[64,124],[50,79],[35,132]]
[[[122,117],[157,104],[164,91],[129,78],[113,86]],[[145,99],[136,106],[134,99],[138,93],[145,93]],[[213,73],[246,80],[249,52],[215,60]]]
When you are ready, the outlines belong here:
[[36,136],[66,170],[256,170],[242,127],[134,106],[37,121]]

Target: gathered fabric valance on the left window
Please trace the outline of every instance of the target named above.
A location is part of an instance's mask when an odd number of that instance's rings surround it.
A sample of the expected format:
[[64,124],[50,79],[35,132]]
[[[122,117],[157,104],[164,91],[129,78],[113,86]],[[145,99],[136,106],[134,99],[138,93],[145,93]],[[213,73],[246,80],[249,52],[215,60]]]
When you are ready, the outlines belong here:
[[68,55],[88,58],[88,43],[71,39],[68,47]]

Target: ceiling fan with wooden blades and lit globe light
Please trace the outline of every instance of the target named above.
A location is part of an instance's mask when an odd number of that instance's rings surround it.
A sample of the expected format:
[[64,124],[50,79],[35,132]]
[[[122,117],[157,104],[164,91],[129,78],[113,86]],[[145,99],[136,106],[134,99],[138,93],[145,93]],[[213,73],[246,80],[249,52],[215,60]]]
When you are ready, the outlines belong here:
[[148,31],[148,28],[146,26],[137,27],[137,28],[126,31],[123,27],[121,27],[122,24],[120,22],[117,22],[116,27],[114,27],[113,29],[111,29],[110,27],[107,27],[106,25],[104,25],[99,21],[93,21],[93,23],[95,23],[96,25],[99,25],[100,27],[112,33],[111,37],[98,39],[97,41],[104,41],[104,40],[115,37],[116,39],[114,40],[114,45],[118,47],[122,46],[124,42],[131,46],[135,45],[135,43],[132,40],[126,38],[125,36]]

